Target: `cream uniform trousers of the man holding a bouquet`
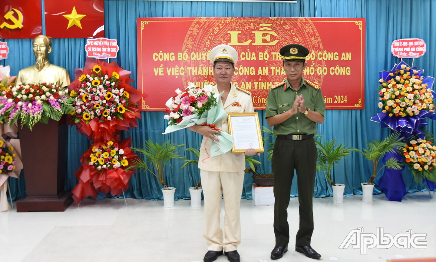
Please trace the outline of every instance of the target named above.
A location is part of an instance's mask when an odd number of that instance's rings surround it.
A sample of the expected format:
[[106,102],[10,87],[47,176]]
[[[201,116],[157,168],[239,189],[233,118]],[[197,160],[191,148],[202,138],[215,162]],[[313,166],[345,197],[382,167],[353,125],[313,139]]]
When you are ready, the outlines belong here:
[[[241,243],[239,207],[244,171],[212,172],[200,169],[200,176],[205,214],[203,236],[208,250],[236,250]],[[220,227],[221,196],[224,197],[224,233]]]

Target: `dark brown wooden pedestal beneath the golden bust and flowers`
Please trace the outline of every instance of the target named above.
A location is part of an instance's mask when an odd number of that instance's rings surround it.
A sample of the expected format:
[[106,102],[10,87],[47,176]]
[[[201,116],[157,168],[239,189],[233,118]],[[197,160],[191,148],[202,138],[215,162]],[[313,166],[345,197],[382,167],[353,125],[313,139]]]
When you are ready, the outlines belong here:
[[73,202],[64,190],[67,130],[65,116],[19,130],[27,196],[17,201],[17,212],[65,211]]

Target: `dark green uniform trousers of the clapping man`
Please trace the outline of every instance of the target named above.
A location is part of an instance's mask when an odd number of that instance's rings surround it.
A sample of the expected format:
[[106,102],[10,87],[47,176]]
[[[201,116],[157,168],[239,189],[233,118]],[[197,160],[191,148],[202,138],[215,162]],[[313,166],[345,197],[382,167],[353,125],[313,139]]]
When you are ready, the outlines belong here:
[[294,169],[297,174],[300,229],[296,245],[310,245],[313,232],[313,188],[317,166],[317,147],[313,138],[292,140],[277,138],[272,155],[274,174],[274,234],[276,245],[289,243],[288,212]]

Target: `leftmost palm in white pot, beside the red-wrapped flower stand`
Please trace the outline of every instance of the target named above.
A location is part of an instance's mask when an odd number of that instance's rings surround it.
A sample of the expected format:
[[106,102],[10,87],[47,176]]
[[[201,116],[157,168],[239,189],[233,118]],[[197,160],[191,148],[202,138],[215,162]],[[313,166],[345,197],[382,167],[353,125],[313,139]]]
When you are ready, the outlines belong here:
[[[143,148],[132,148],[133,151],[140,152],[145,156],[146,160],[138,159],[133,161],[133,165],[129,166],[126,170],[136,168],[140,171],[145,169],[152,173],[163,186],[164,207],[174,207],[174,192],[176,190],[175,187],[168,187],[164,181],[165,167],[170,159],[184,158],[182,155],[177,154],[178,148],[183,146],[176,145],[170,140],[165,141],[162,145],[146,140]],[[151,166],[148,164],[151,164]]]

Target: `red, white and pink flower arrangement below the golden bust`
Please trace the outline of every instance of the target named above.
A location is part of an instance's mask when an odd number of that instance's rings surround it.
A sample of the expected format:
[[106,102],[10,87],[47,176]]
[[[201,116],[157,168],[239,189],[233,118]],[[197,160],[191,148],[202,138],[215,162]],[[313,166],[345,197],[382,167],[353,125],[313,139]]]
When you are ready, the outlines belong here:
[[12,126],[20,119],[21,128],[27,125],[32,130],[38,122],[47,124],[49,118],[59,121],[62,114],[70,114],[72,103],[68,90],[63,87],[48,83],[20,84],[2,92],[0,121]]

